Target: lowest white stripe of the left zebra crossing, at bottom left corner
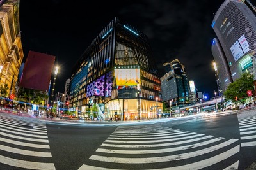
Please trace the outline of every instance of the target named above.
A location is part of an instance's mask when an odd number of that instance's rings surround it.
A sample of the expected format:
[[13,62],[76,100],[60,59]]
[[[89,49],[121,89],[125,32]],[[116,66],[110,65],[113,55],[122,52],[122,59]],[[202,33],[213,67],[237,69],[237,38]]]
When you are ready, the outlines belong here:
[[30,162],[19,159],[12,159],[9,157],[4,157],[0,155],[0,162],[9,166],[26,168],[26,169],[38,169],[38,170],[55,170],[55,166],[52,163],[42,163],[42,162]]

